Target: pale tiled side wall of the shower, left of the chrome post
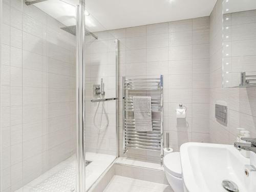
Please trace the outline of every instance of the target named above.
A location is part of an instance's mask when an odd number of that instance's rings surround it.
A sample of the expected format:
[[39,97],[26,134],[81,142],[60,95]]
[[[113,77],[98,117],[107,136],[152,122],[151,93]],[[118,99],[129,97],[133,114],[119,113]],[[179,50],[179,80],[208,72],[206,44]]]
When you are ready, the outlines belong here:
[[75,37],[34,6],[3,1],[2,190],[74,154]]

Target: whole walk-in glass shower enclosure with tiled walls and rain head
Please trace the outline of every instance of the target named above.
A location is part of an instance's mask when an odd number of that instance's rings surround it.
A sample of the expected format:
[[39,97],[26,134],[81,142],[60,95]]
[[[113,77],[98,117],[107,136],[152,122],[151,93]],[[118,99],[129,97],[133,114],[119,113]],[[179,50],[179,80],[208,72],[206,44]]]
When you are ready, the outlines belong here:
[[93,190],[118,157],[118,39],[84,0],[0,12],[0,190]]

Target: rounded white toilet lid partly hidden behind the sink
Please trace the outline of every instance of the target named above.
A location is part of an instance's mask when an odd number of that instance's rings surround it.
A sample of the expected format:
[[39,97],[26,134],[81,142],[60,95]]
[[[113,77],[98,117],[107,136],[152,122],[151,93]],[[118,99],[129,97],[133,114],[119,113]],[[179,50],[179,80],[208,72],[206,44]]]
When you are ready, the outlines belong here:
[[181,162],[180,162],[180,153],[174,152],[166,155],[163,158],[164,169],[169,174],[182,178],[182,169],[181,169]]

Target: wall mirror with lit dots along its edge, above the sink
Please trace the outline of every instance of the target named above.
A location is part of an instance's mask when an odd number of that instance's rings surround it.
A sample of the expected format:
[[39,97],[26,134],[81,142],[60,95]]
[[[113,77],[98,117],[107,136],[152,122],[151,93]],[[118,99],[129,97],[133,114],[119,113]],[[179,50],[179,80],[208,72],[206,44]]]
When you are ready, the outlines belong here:
[[223,0],[223,87],[256,86],[256,1]]

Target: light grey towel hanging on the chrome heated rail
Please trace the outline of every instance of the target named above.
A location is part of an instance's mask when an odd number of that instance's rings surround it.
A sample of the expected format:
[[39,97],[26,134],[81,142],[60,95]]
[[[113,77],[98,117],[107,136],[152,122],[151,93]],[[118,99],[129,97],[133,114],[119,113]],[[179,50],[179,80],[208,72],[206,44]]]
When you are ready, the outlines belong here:
[[153,131],[151,97],[133,97],[135,131]]

